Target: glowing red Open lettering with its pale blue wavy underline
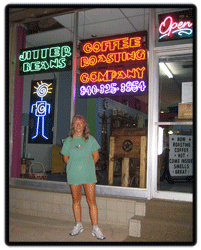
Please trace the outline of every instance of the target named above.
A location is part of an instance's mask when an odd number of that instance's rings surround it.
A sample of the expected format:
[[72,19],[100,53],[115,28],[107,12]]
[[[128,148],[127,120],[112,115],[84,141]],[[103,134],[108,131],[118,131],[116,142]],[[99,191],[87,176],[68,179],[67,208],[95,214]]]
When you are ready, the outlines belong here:
[[159,26],[159,33],[161,36],[159,39],[163,38],[164,36],[171,37],[172,34],[178,33],[179,36],[182,34],[191,35],[192,34],[192,27],[193,23],[190,21],[180,21],[174,22],[171,16],[167,16]]

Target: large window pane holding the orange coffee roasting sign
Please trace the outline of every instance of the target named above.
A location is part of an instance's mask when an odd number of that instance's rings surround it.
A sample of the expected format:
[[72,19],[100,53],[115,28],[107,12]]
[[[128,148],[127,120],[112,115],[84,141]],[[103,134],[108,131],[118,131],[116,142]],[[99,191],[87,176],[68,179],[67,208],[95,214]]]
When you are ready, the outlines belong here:
[[[132,54],[140,53],[138,49],[132,48],[129,50],[125,47],[123,50],[118,47],[118,50],[116,45],[113,48],[111,41],[117,43],[117,40],[112,39],[121,40],[125,39],[125,37],[128,41],[131,41],[130,37],[132,35],[140,37],[141,31],[145,31],[146,33],[148,30],[148,11],[148,8],[114,8],[91,9],[80,12],[80,22],[83,23],[83,26],[80,27],[80,34],[85,39],[83,43],[93,44],[94,46],[94,49],[90,49],[89,46],[86,54],[83,54],[84,46],[80,46],[80,74],[87,75],[85,79],[81,79],[80,77],[80,84],[83,84],[82,80],[87,81],[84,84],[85,86],[82,86],[81,92],[81,95],[85,97],[96,95],[98,92],[96,98],[88,99],[87,102],[87,109],[90,111],[88,112],[87,110],[87,118],[91,118],[88,119],[89,128],[91,132],[94,132],[92,135],[95,136],[101,146],[100,160],[96,164],[98,185],[146,187],[148,81],[142,80],[146,79],[147,75],[145,73],[144,78],[140,76],[141,81],[139,81],[140,77],[138,77],[134,82],[134,79],[128,77],[126,72],[130,72],[131,68],[137,67],[144,70],[143,62],[147,60],[147,56],[145,55],[146,52],[143,51],[144,56],[141,58],[140,63],[139,58],[136,59],[137,57],[135,59],[133,57],[131,60]],[[92,21],[95,22],[93,23]],[[114,35],[115,37],[113,37]],[[108,36],[110,37],[108,38]],[[110,41],[110,43],[108,42],[110,45],[107,45],[109,46],[108,49],[107,46],[101,47],[105,46],[105,39]],[[147,38],[143,35],[142,43],[145,44],[145,47],[147,45],[146,41]],[[121,45],[121,41],[119,45]],[[107,51],[110,46],[112,47],[110,54],[108,54]],[[97,51],[101,51],[101,53],[97,54]],[[89,56],[91,55],[90,59]],[[97,67],[98,55],[100,61],[99,68]],[[108,55],[113,59],[116,58],[115,63],[114,60],[110,60],[107,67],[104,68],[104,62],[108,62]],[[117,55],[119,55],[118,59]],[[123,63],[123,61],[125,62],[123,55],[127,58],[126,63]],[[88,70],[87,67],[89,68]],[[101,82],[100,80],[97,84],[97,72],[101,73],[100,75],[103,78],[106,72],[104,70],[106,69],[109,71],[112,70],[113,76],[118,76],[118,72],[121,70],[121,74],[124,74],[124,76],[119,74],[118,79],[114,77],[113,81],[110,81],[109,78],[108,82]],[[94,89],[90,85],[90,72],[94,72],[93,79],[91,80]],[[87,86],[86,84],[89,85]],[[113,95],[112,84],[115,86],[113,89],[115,94]],[[103,95],[104,97],[102,97],[100,93],[103,92],[110,94],[108,96]]]

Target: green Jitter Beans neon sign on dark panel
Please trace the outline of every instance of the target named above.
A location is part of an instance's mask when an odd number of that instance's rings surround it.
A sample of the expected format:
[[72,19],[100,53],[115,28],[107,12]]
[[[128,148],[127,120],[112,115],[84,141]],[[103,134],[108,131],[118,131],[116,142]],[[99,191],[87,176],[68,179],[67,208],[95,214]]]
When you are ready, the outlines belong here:
[[72,42],[21,50],[20,74],[71,69]]

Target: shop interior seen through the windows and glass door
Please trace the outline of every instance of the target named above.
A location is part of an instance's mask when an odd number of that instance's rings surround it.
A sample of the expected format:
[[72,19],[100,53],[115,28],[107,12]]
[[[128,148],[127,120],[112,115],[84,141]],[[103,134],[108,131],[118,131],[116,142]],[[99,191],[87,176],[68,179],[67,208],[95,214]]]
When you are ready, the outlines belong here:
[[[156,8],[156,20],[158,20],[159,14],[180,10],[178,8]],[[141,31],[148,32],[148,14],[148,8],[96,8],[79,12],[75,113],[85,117],[91,135],[96,138],[101,146],[100,159],[96,164],[98,185],[146,187],[146,164],[143,165],[140,159],[146,157],[147,153],[149,86],[148,91],[141,94],[81,98],[79,94],[79,44],[87,39]],[[23,23],[23,25],[26,28],[26,48],[73,41],[74,13],[29,21]],[[166,69],[164,69],[164,65]],[[164,56],[159,59],[158,67],[160,82],[159,122],[177,122],[179,104],[184,101],[184,98],[187,98],[184,95],[184,89],[187,89],[189,93],[188,98],[192,98],[193,56],[192,54]],[[171,75],[168,76],[167,70]],[[34,114],[35,108],[34,106],[30,108],[32,88],[35,84],[36,89],[40,86],[40,81],[44,80],[50,80],[49,89],[54,90],[54,103],[51,103],[54,106],[54,115],[51,118],[51,143],[30,140],[31,124],[29,119],[30,113]],[[186,83],[188,84],[185,85]],[[22,178],[28,178],[31,171],[33,173],[44,173],[46,177],[44,179],[48,181],[66,182],[66,166],[60,150],[63,140],[67,138],[70,130],[71,84],[71,70],[24,75],[21,155],[22,164],[26,165],[26,174]],[[50,105],[50,102],[48,105]],[[47,106],[47,110],[48,107],[50,106]],[[192,117],[189,116],[184,121],[192,121]],[[186,138],[193,135],[193,126],[161,125],[160,127],[163,136],[159,138],[162,146],[158,153],[158,190],[192,193],[193,173],[189,170],[193,168],[192,161],[184,162],[185,166],[180,164],[180,170],[178,171],[182,171],[184,167],[187,168],[187,172],[189,171],[189,174],[184,176],[171,175],[168,164],[170,162],[172,136],[181,136],[182,140],[187,140]],[[116,138],[115,143],[112,142],[111,137]],[[192,151],[192,144],[189,145]],[[111,147],[114,148],[113,157],[110,155]],[[139,154],[136,154],[135,157],[129,155],[133,148],[139,151]],[[188,150],[189,154],[192,155],[190,149]],[[124,160],[125,152],[126,157],[129,157],[128,163]],[[26,159],[26,161],[23,162],[23,159]],[[114,162],[112,177],[109,169],[110,161]],[[128,176],[127,179],[122,177],[122,166],[125,164],[129,165],[128,173],[124,174],[124,176]],[[143,180],[141,176],[144,176]]]

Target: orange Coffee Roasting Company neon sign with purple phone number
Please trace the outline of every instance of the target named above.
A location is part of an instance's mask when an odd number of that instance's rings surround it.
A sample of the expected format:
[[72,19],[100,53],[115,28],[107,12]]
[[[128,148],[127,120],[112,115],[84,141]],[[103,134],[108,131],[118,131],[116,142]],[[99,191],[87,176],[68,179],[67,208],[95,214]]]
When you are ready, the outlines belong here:
[[146,89],[145,31],[80,44],[80,97],[142,94]]

